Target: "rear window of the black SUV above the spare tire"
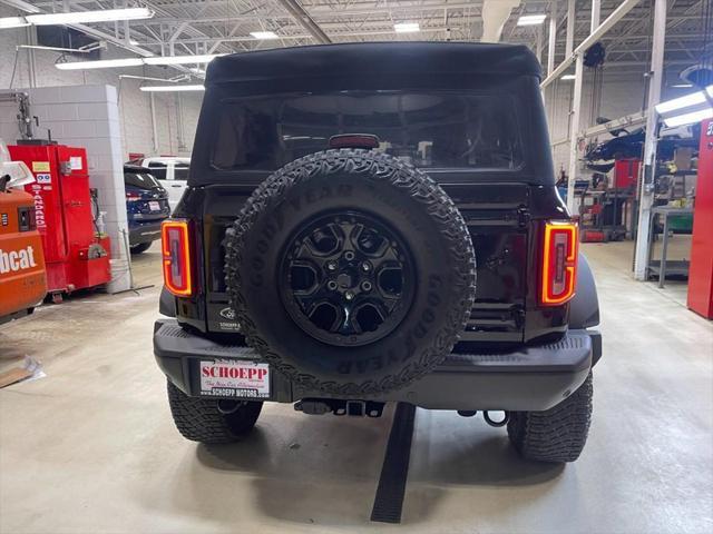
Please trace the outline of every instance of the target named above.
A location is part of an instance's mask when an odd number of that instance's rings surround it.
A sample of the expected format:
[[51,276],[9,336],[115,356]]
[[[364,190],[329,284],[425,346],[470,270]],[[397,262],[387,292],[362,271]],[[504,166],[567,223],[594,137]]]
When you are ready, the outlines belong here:
[[329,148],[339,134],[371,134],[379,150],[421,168],[517,169],[516,99],[509,95],[342,91],[226,101],[213,166],[274,170]]

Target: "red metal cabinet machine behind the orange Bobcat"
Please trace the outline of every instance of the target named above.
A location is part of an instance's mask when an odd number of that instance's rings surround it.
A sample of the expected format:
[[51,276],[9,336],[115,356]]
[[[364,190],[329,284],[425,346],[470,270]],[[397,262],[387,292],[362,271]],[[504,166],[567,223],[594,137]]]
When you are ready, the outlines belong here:
[[64,145],[8,147],[25,161],[36,182],[25,186],[35,197],[37,229],[42,236],[48,290],[62,293],[106,284],[111,279],[109,239],[96,236],[87,152]]

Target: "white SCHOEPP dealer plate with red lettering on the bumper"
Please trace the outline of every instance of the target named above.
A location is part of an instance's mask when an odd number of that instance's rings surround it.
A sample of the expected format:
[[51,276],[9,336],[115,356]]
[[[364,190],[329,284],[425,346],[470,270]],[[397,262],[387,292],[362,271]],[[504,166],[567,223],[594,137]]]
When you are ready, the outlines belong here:
[[270,366],[255,362],[201,362],[201,395],[270,398]]

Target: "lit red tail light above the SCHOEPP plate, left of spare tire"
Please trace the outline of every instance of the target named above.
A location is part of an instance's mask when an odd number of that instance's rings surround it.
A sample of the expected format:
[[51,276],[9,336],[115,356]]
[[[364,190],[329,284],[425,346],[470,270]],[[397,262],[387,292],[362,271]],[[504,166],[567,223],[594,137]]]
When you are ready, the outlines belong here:
[[166,220],[160,227],[164,284],[177,297],[193,294],[191,225],[187,220]]

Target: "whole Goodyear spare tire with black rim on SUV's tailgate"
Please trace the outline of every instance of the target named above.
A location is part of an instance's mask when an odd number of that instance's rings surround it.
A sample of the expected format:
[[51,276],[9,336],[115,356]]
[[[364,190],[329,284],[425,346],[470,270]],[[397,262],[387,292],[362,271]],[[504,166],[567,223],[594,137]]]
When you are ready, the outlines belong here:
[[277,170],[225,246],[247,344],[310,394],[380,394],[428,373],[458,340],[476,293],[452,200],[371,150],[328,150]]

